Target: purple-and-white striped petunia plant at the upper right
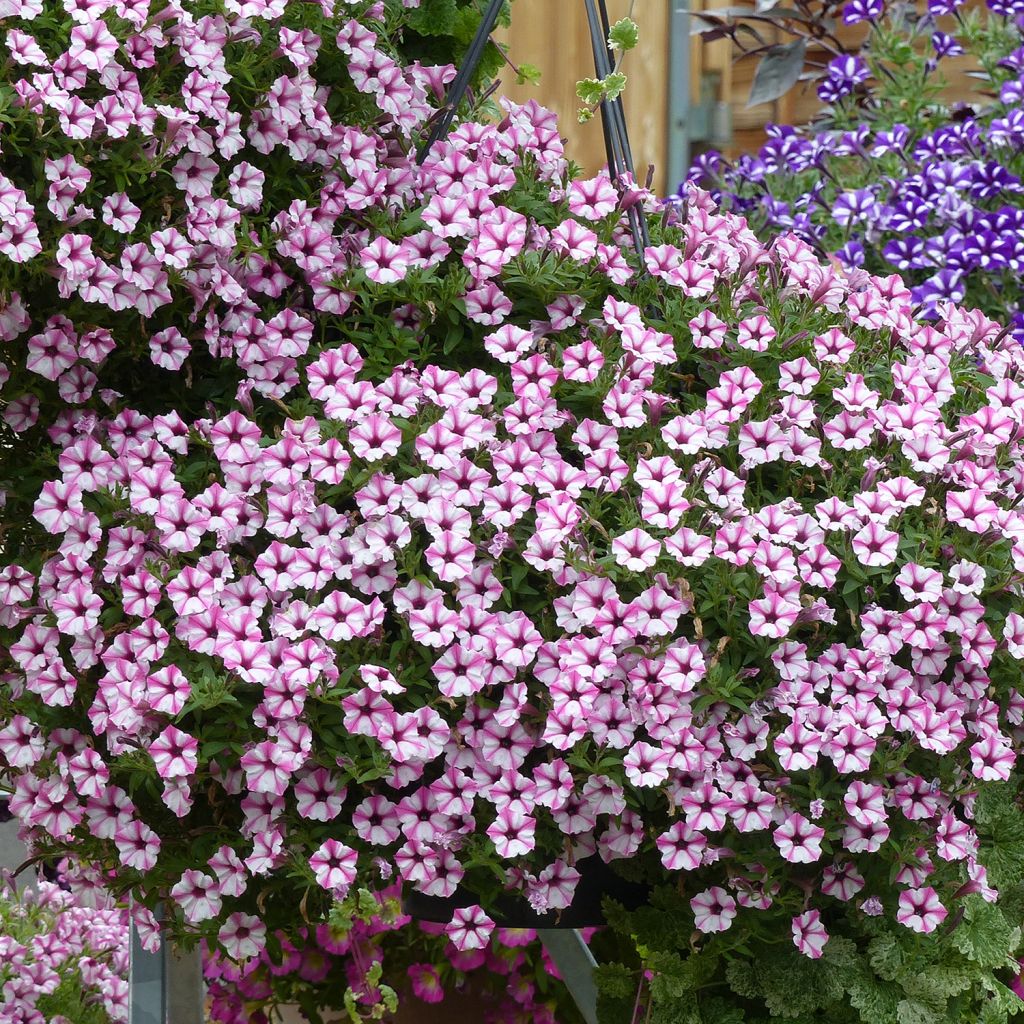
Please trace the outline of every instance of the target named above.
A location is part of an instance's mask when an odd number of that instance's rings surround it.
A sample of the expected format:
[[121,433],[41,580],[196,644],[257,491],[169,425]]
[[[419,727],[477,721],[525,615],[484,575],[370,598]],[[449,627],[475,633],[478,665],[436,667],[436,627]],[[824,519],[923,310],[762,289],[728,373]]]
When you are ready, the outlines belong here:
[[[843,11],[870,46],[829,65],[814,122],[770,126],[733,162],[705,155],[691,177],[763,238],[792,230],[849,268],[900,273],[926,315],[962,302],[1024,340],[1024,7]],[[970,103],[947,98],[957,65],[978,82]]]

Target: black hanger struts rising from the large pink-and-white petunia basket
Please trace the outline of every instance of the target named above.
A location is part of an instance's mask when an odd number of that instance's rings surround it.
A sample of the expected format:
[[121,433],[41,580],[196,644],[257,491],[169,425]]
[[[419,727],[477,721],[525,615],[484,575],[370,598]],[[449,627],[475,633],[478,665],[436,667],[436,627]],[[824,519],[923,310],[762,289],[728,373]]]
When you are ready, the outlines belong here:
[[[611,74],[614,61],[607,43],[608,34],[611,31],[608,8],[605,0],[598,0],[598,2],[599,7],[595,4],[595,0],[584,0],[584,5],[587,9],[587,22],[590,27],[591,48],[594,51],[594,70],[597,77],[603,80]],[[498,24],[498,15],[501,13],[503,4],[504,0],[490,0],[488,3],[476,34],[466,50],[459,73],[449,86],[444,103],[433,119],[429,135],[417,152],[416,162],[418,164],[422,164],[427,159],[435,142],[447,135],[459,106],[466,96],[470,80],[486,49],[490,33],[494,32],[495,26]],[[630,150],[629,132],[626,129],[626,113],[623,109],[622,96],[616,96],[612,100],[601,100],[601,128],[604,133],[604,152],[608,162],[608,174],[612,181],[621,181],[628,175],[636,184],[636,171],[633,166],[633,153]],[[650,245],[647,218],[639,203],[634,203],[629,208],[627,217],[642,271],[643,252]]]

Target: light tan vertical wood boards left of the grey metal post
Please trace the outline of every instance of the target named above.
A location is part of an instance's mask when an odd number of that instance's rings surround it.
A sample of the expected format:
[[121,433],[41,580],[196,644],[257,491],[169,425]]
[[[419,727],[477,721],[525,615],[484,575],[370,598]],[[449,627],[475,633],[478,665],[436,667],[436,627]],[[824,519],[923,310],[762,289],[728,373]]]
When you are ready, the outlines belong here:
[[[628,84],[624,102],[637,176],[654,166],[654,186],[662,188],[667,152],[670,0],[635,0],[633,18],[640,44],[623,63]],[[629,0],[608,0],[612,22],[624,17]],[[510,69],[502,75],[502,92],[518,102],[537,99],[558,114],[566,154],[588,171],[605,165],[600,119],[581,125],[575,84],[594,77],[590,30],[582,0],[515,0],[512,27],[499,37],[515,63],[536,65],[539,85],[517,85]]]

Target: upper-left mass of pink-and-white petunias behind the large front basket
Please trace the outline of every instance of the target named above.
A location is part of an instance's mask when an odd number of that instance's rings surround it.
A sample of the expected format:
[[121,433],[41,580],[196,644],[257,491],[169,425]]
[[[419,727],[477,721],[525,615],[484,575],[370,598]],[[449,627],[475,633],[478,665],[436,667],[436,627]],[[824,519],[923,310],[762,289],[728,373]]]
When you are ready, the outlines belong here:
[[[371,226],[422,196],[408,151],[455,74],[399,62],[392,36],[418,6],[0,7],[15,96],[0,141],[9,431],[51,428],[47,399],[110,409],[126,387],[174,389],[167,372],[184,368],[187,390],[223,360],[240,396],[281,398],[353,274],[399,281],[443,255],[429,229],[399,252]],[[328,109],[339,98],[348,120]]]

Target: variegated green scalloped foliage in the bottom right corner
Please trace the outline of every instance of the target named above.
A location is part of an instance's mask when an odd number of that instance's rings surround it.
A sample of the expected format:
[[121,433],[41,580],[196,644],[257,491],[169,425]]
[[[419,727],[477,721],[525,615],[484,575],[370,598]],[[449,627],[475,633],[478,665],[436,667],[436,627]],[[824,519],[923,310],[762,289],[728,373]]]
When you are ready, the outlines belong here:
[[599,970],[600,1018],[622,1024],[629,1005],[634,1019],[686,1024],[1006,1021],[1024,1010],[1009,987],[1018,971],[1022,895],[1020,883],[999,905],[969,895],[958,920],[932,935],[839,905],[818,959],[757,922],[681,943],[680,918],[689,915],[678,895],[654,913],[612,911],[614,927],[641,949],[645,974],[640,983],[638,969]]

